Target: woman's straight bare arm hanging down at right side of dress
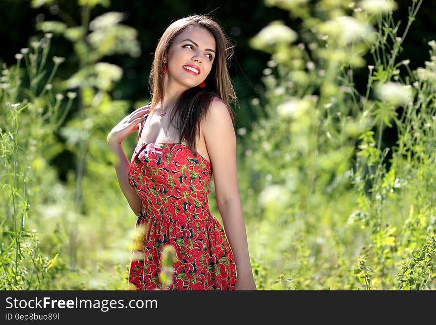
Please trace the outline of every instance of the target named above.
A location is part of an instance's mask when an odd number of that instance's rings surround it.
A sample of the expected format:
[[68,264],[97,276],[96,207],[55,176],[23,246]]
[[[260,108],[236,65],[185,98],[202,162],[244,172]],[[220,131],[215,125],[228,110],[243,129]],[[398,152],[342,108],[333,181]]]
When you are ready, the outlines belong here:
[[239,198],[236,135],[227,107],[212,101],[201,130],[214,173],[217,205],[236,262],[236,290],[256,290],[248,252],[247,233]]

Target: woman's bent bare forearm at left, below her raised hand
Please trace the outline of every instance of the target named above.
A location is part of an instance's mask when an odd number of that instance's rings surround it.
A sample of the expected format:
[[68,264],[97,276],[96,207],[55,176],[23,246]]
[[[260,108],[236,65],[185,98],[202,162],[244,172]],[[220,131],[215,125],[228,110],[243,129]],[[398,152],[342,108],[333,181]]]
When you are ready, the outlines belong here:
[[129,202],[130,208],[138,216],[141,211],[142,202],[136,190],[129,184],[129,167],[130,162],[121,146],[121,143],[108,142],[109,148],[117,156],[118,163],[115,164],[116,177],[121,190]]

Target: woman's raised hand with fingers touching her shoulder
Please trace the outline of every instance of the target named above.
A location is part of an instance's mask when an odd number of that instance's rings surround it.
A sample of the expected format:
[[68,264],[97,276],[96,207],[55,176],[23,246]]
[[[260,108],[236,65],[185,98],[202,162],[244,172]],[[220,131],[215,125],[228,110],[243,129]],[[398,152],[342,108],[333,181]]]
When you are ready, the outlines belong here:
[[106,141],[109,146],[121,143],[132,132],[138,131],[139,123],[144,122],[146,115],[150,112],[150,105],[140,107],[124,117],[112,130],[110,130]]

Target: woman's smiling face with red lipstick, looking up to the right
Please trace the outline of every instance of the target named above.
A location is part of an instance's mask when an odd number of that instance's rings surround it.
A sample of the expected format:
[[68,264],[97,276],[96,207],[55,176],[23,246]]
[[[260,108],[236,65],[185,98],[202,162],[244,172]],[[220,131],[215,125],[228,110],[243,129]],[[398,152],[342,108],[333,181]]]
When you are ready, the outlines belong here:
[[163,57],[167,86],[188,89],[201,84],[211,72],[215,51],[215,39],[209,31],[197,26],[187,27]]

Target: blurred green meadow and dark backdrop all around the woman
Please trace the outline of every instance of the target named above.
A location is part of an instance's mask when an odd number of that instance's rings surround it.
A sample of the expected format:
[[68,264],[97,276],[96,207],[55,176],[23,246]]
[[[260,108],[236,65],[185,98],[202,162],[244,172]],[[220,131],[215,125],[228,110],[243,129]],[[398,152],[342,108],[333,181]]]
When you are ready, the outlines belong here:
[[[1,0],[2,289],[127,289],[106,136],[165,28],[216,19],[259,289],[435,289],[434,1]],[[123,143],[130,159],[136,136]],[[209,201],[218,216],[213,182]]]

